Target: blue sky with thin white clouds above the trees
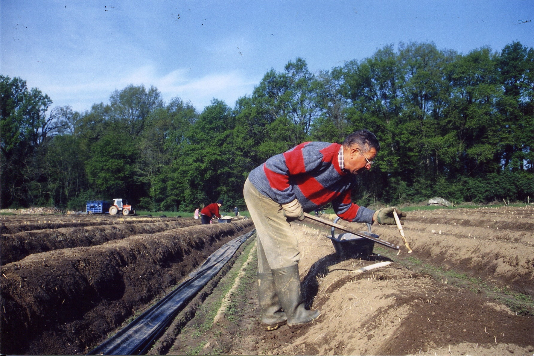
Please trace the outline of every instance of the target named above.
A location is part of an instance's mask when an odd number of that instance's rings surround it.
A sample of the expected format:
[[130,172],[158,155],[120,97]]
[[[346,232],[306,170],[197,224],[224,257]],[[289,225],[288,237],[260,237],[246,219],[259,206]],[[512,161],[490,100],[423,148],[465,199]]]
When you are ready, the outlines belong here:
[[233,107],[297,57],[317,72],[410,41],[534,47],[534,0],[0,0],[0,74],[80,112],[129,84]]

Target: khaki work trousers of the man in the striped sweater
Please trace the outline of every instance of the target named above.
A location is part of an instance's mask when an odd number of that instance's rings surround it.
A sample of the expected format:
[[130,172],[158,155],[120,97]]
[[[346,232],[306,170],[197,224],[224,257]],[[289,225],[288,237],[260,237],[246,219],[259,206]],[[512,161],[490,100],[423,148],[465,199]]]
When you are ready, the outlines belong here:
[[299,241],[282,207],[245,181],[243,196],[257,235],[258,272],[296,265],[300,260]]

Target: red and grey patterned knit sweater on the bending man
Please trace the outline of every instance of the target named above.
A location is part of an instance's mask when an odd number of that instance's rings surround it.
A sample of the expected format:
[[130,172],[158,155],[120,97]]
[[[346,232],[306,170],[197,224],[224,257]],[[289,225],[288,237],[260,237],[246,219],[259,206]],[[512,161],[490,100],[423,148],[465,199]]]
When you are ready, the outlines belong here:
[[305,142],[272,156],[253,169],[248,178],[260,193],[279,204],[295,198],[306,212],[332,202],[343,220],[371,223],[374,210],[352,203],[351,173],[341,171],[337,155],[340,144]]

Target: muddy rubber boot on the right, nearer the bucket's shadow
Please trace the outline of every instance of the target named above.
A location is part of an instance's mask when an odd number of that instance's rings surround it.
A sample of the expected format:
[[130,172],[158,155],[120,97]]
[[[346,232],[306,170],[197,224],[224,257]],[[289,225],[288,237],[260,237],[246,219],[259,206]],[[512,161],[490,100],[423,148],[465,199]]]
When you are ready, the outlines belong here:
[[321,315],[319,310],[304,307],[298,265],[276,268],[272,270],[272,276],[282,310],[286,313],[287,325],[307,323]]

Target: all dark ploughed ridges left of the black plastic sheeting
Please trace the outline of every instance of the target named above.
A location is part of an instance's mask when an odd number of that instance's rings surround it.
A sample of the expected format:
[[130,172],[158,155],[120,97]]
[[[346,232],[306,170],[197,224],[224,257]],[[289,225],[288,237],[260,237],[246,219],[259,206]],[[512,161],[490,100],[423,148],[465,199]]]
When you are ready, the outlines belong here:
[[252,220],[2,216],[4,354],[82,354],[163,297]]

